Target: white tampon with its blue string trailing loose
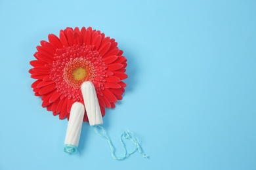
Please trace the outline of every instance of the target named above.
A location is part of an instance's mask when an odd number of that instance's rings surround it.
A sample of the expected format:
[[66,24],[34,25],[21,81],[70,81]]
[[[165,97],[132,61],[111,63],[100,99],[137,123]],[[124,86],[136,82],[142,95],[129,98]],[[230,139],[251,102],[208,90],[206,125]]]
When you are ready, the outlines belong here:
[[83,94],[83,101],[85,102],[85,110],[87,112],[89,124],[91,126],[103,124],[100,105],[98,104],[98,98],[93,82],[83,82],[81,85],[81,92]]

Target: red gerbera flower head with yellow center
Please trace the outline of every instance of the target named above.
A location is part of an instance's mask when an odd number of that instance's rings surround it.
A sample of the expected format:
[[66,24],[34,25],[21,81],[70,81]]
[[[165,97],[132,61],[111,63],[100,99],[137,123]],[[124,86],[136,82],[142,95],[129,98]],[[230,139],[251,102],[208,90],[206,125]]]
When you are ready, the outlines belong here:
[[[91,27],[67,27],[60,30],[59,38],[50,34],[48,39],[37,46],[29,71],[37,79],[32,88],[41,96],[42,107],[60,119],[69,118],[72,104],[83,103],[80,87],[88,80],[95,86],[102,116],[105,107],[115,107],[125,92],[122,80],[127,78],[127,59],[117,42]],[[88,122],[86,112],[83,121]]]

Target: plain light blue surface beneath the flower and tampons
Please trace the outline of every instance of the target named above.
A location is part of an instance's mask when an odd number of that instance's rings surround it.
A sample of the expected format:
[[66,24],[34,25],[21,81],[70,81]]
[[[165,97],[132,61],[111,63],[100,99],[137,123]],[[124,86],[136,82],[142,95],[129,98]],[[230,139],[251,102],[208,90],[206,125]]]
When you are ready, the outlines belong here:
[[[255,1],[0,0],[0,169],[256,169]],[[104,128],[135,132],[144,152],[112,159],[83,124],[63,151],[66,120],[41,107],[29,61],[49,33],[92,26],[128,59],[127,88]],[[132,145],[127,144],[132,150]]]

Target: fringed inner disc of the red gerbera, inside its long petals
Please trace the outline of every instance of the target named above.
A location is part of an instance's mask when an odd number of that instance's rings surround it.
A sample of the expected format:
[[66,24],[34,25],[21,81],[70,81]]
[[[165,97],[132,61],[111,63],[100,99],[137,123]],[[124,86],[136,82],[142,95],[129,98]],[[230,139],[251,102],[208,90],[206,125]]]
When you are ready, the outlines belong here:
[[106,63],[94,46],[69,46],[56,50],[50,78],[56,83],[60,95],[83,101],[81,84],[91,81],[96,92],[103,89],[106,77]]

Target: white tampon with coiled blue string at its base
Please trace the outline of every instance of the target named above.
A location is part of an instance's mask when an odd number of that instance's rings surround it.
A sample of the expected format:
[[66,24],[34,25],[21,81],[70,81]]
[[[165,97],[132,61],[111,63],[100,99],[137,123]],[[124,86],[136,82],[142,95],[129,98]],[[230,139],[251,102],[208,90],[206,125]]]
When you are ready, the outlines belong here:
[[64,143],[64,151],[67,153],[75,154],[75,152],[77,152],[84,114],[84,105],[75,102],[70,110],[70,120],[68,121],[68,129]]

